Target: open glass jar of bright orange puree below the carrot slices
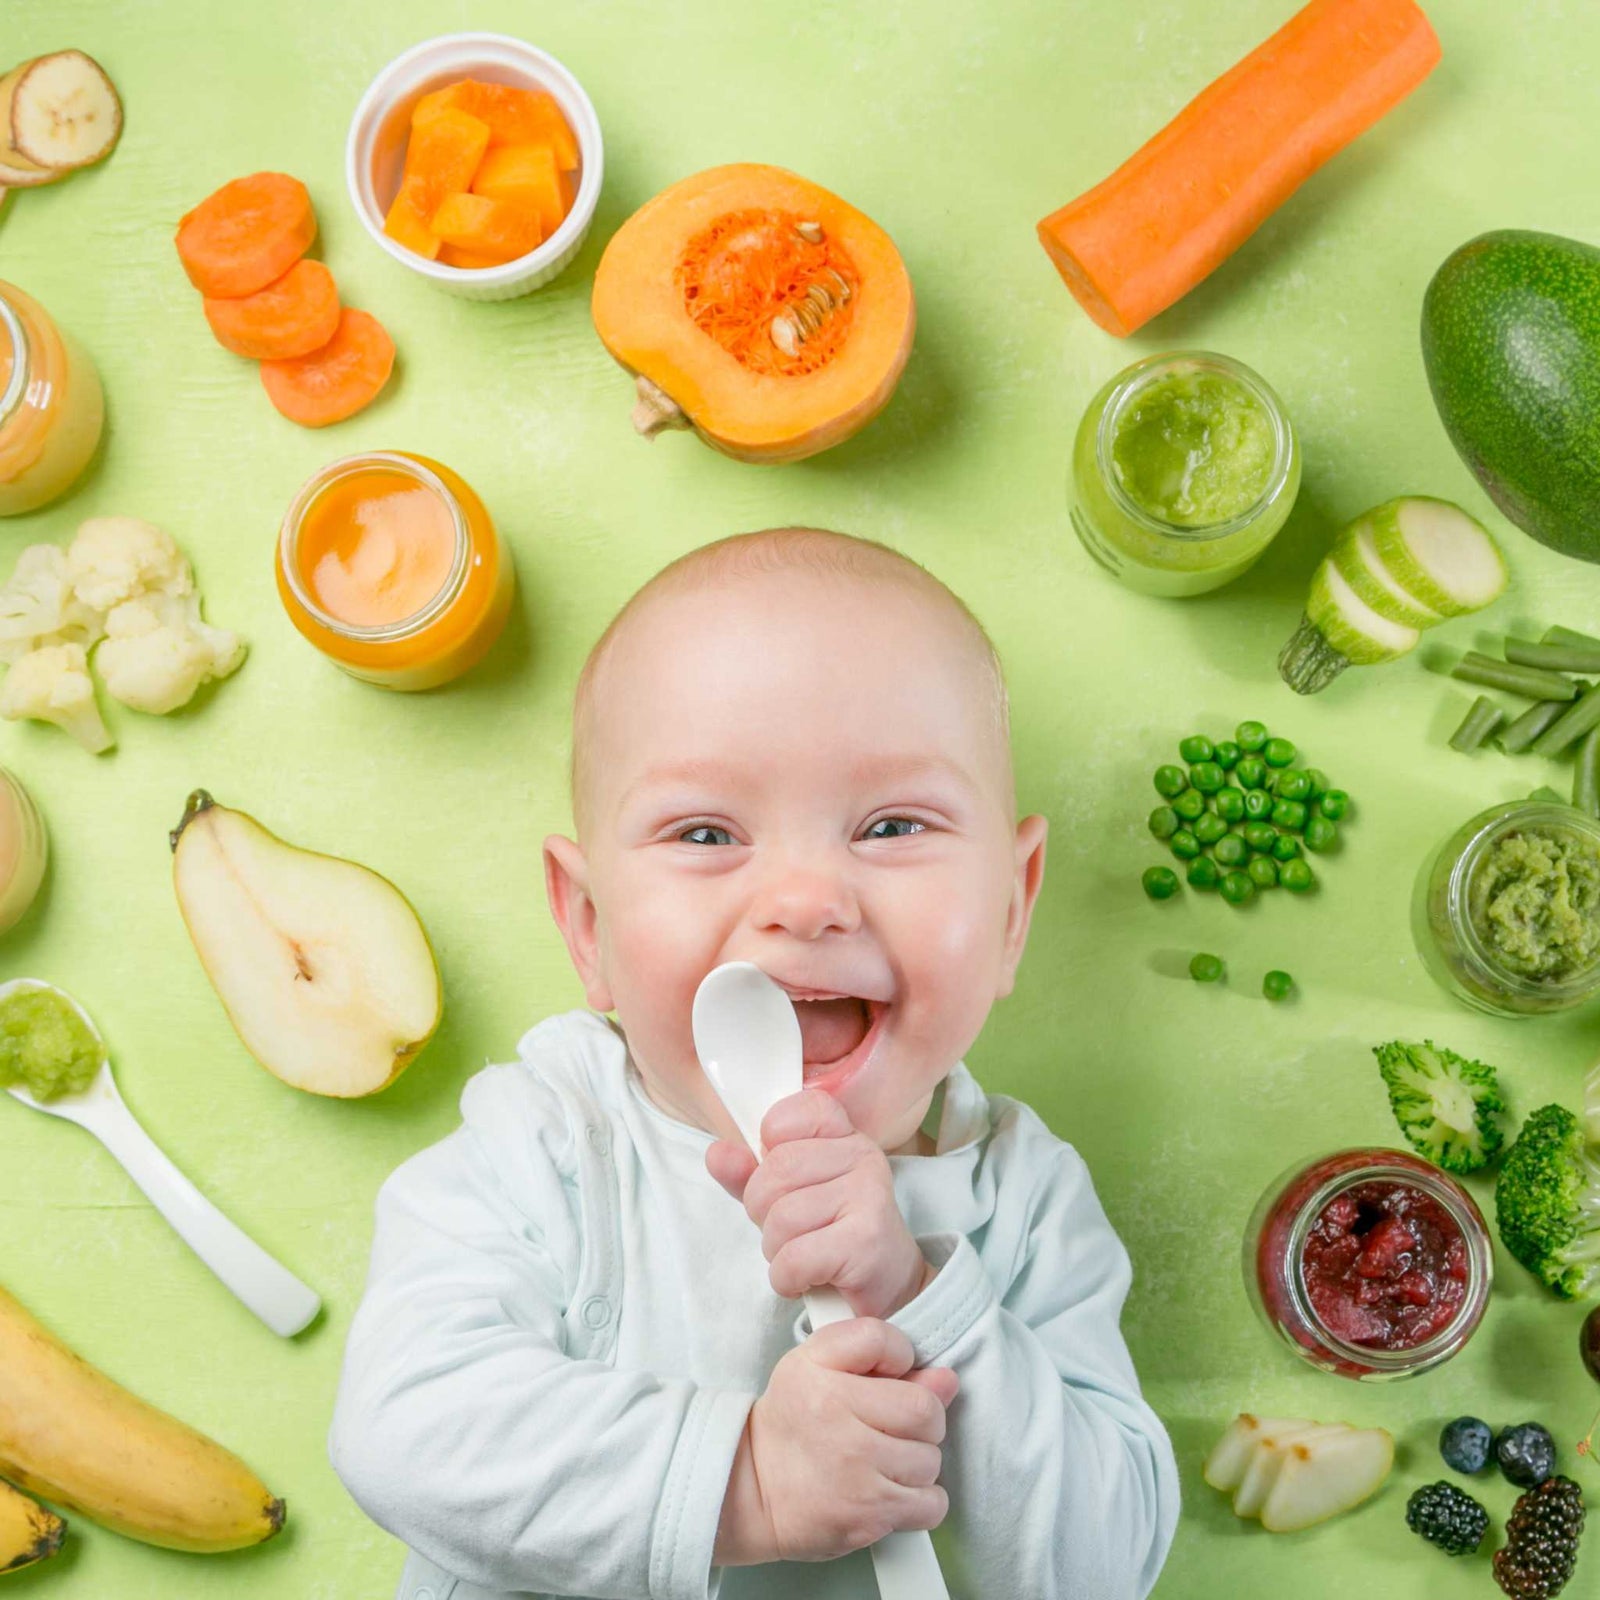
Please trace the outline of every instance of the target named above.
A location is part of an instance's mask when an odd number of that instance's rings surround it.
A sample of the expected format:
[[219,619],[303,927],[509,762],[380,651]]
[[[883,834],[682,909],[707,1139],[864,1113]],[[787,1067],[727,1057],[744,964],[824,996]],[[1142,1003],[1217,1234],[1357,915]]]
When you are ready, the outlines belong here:
[[278,534],[290,621],[346,672],[429,690],[478,664],[515,574],[483,502],[450,467],[371,451],[323,467]]

